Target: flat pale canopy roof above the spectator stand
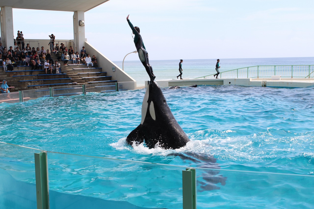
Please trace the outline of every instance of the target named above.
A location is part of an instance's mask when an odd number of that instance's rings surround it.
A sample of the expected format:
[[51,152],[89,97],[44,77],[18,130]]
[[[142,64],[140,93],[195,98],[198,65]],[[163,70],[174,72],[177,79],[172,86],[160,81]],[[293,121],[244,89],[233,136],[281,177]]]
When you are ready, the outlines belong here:
[[1,7],[12,7],[18,9],[38,9],[52,11],[88,11],[109,0],[4,0],[1,1]]

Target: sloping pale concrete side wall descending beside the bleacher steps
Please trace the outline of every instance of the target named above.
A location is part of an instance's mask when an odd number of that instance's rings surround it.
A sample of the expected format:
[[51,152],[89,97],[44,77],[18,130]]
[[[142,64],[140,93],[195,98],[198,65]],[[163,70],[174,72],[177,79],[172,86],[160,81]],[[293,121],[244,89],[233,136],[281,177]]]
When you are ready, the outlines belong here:
[[[99,67],[102,67],[103,72],[107,72],[108,76],[112,76],[113,80],[118,82],[133,82],[133,89],[136,89],[136,81],[130,77],[126,72],[124,72],[115,63],[111,62],[106,56],[104,56],[100,51],[95,49],[88,42],[85,42],[85,50],[92,57],[95,55],[97,57],[97,62]],[[80,51],[79,51],[80,52]],[[112,67],[115,67],[115,71],[112,71]]]

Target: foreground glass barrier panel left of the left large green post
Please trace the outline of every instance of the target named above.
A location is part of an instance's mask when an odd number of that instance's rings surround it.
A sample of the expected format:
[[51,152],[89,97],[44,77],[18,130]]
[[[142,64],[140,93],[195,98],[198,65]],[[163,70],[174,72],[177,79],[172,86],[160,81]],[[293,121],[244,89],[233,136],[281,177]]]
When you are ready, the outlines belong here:
[[37,208],[34,153],[40,152],[0,142],[0,208]]

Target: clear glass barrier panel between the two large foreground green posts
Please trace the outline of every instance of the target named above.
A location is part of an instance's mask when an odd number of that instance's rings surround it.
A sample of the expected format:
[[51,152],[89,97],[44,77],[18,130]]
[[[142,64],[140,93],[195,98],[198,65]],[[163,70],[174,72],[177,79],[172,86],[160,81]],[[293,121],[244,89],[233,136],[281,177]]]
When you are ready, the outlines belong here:
[[185,168],[48,153],[50,208],[182,208]]

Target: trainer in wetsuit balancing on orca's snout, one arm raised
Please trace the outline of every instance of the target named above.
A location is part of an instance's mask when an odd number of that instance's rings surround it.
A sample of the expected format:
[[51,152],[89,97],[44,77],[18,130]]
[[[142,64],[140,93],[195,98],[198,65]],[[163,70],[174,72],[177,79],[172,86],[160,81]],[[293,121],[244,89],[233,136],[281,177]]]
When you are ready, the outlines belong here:
[[132,29],[133,34],[134,34],[134,44],[135,44],[136,50],[138,51],[138,57],[139,57],[140,61],[142,62],[143,66],[145,67],[146,72],[149,75],[150,83],[152,83],[154,81],[154,79],[156,78],[156,76],[153,73],[152,66],[150,66],[150,64],[149,64],[148,53],[147,53],[146,48],[143,44],[142,36],[139,34],[139,28],[136,26],[134,27],[132,25],[132,23],[129,20],[129,15],[127,15],[127,22],[130,25],[130,28]]

